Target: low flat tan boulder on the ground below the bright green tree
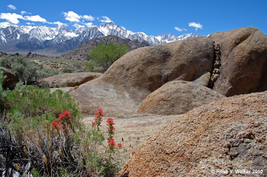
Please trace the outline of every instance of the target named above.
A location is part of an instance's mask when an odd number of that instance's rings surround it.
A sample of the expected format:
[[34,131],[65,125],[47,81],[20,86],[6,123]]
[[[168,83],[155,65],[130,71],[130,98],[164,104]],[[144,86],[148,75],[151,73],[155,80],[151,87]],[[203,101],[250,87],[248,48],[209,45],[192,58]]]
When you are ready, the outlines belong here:
[[46,81],[49,85],[54,84],[59,87],[74,87],[96,79],[101,75],[102,73],[66,73],[54,75],[41,81]]

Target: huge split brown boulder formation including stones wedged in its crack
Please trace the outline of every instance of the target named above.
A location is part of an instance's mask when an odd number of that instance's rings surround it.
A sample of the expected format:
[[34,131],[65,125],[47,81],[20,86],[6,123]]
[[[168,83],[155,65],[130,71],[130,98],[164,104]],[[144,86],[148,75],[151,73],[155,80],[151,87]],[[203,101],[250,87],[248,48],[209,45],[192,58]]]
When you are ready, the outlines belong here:
[[265,91],[266,66],[266,36],[254,27],[238,28],[130,51],[70,93],[85,114],[102,109],[107,116],[128,116],[170,81],[192,81],[225,96]]

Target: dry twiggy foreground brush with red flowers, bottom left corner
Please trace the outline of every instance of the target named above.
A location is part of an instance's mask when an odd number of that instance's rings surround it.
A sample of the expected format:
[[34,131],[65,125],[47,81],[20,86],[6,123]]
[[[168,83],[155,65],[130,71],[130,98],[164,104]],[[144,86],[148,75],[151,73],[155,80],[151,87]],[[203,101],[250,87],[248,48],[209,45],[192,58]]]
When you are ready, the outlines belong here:
[[2,161],[7,164],[2,167],[4,175],[17,171],[20,176],[28,173],[33,176],[116,176],[127,160],[121,156],[119,144],[113,149],[104,146],[101,131],[82,124],[73,125],[70,116],[73,115],[64,111],[57,122],[44,124],[38,124],[41,121],[38,116],[34,121],[13,120],[23,125],[20,129],[2,118],[0,149],[8,149],[0,151]]

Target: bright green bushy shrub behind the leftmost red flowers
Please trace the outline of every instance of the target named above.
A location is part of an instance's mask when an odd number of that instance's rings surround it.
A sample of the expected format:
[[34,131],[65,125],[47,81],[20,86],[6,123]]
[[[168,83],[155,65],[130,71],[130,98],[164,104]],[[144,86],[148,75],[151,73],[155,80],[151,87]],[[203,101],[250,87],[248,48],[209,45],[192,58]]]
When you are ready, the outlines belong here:
[[5,107],[9,115],[19,111],[26,118],[49,113],[55,117],[64,110],[70,110],[74,117],[80,116],[77,103],[70,94],[63,94],[61,90],[50,93],[50,88],[39,89],[34,86],[27,86],[22,92],[16,89],[10,91],[6,96]]

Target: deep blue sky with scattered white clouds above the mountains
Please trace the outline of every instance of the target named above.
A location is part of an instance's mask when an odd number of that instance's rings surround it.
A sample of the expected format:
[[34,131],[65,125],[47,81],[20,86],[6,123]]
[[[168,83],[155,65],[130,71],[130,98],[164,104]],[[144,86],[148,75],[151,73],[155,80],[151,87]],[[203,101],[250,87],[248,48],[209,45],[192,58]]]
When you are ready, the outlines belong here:
[[224,1],[60,1],[0,2],[0,22],[17,25],[63,24],[70,29],[114,22],[147,35],[207,35],[254,26],[267,34],[267,0]]

